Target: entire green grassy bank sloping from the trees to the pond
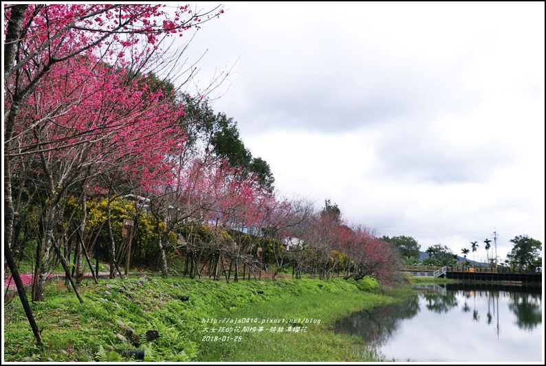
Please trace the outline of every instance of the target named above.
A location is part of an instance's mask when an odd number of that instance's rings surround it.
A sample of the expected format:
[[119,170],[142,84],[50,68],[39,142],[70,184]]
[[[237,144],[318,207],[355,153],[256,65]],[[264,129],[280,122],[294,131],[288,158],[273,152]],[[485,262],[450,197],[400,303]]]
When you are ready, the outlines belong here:
[[[80,287],[80,304],[63,282],[52,282],[45,301],[32,304],[42,347],[34,344],[18,297],[4,305],[5,361],[127,361],[115,350],[144,350],[144,361],[379,361],[356,339],[329,330],[338,317],[395,301],[366,291],[374,287],[373,281],[343,279],[226,284],[142,277],[87,282]],[[260,332],[241,327],[237,335],[234,329],[212,334],[207,322],[226,318],[303,320],[292,323],[301,332],[289,332],[285,323],[283,332],[260,324]],[[148,341],[150,330],[159,337]]]

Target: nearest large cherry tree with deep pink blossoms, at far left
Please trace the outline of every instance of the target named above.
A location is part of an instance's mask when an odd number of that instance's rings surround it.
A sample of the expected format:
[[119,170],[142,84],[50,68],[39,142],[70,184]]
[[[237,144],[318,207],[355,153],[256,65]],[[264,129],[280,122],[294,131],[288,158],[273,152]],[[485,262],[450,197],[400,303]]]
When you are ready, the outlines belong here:
[[[164,146],[179,141],[171,118],[164,123],[168,116],[177,119],[173,104],[124,72],[145,69],[166,36],[182,35],[223,11],[196,14],[188,5],[169,13],[162,5],[54,4],[6,5],[4,12],[4,240],[12,242],[17,214],[11,184],[17,159],[34,155],[48,196],[45,260],[34,298],[41,300],[50,250],[56,247],[57,205],[69,187],[86,179],[89,165],[116,162],[119,168],[119,159],[127,158],[128,170],[153,166],[161,162]],[[157,180],[157,170],[141,171],[143,181]]]

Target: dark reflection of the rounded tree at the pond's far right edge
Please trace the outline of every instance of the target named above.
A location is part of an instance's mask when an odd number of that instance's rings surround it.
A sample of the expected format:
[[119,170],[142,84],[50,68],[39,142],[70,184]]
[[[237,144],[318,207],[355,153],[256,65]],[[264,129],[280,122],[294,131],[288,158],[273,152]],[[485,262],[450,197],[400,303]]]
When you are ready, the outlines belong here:
[[542,299],[535,293],[510,293],[508,308],[516,314],[520,329],[533,330],[542,323]]

